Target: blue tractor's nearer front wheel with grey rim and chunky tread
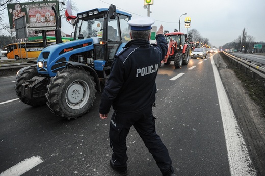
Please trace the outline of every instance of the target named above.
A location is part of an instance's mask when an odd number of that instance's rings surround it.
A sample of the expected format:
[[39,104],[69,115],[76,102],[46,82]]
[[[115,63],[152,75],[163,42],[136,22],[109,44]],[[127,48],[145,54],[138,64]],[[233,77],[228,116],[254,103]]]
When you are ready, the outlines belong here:
[[57,116],[76,119],[93,106],[95,84],[84,69],[68,68],[58,72],[47,86],[47,105]]

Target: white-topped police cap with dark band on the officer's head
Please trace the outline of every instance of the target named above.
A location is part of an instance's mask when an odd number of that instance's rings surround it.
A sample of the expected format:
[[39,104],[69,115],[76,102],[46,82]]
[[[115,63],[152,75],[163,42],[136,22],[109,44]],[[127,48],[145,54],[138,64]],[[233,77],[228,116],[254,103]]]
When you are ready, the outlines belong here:
[[141,17],[136,19],[129,20],[128,24],[130,29],[134,31],[146,31],[150,30],[151,25],[154,23],[154,20],[150,17]]

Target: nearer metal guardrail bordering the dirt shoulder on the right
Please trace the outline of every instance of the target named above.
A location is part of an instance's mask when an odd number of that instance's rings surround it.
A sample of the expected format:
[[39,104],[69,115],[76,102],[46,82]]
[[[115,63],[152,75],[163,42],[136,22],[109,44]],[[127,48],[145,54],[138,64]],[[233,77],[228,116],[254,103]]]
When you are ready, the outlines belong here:
[[239,57],[233,56],[229,53],[226,53],[223,51],[223,53],[228,56],[229,58],[233,59],[235,62],[243,65],[244,67],[246,67],[247,69],[250,69],[251,71],[253,71],[254,73],[258,74],[259,76],[261,76],[262,78],[265,78],[265,68],[261,67],[260,64],[255,64],[251,61],[247,61],[244,59],[241,59]]

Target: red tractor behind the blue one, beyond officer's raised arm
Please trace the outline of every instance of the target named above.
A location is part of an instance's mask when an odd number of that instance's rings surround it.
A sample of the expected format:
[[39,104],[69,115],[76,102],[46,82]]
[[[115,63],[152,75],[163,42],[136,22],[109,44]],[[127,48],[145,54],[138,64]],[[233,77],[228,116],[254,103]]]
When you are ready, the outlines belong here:
[[174,61],[175,68],[188,65],[190,60],[190,47],[186,43],[187,34],[171,32],[164,35],[168,42],[168,53],[161,63],[168,65],[171,61]]

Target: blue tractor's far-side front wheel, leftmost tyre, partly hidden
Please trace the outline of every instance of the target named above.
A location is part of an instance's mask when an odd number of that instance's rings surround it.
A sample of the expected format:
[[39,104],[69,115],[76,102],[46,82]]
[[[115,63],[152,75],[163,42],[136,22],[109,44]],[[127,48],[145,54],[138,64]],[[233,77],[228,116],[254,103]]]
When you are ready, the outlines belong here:
[[30,106],[37,107],[37,106],[44,105],[47,102],[45,96],[41,98],[36,98],[36,99],[29,99],[21,95],[22,84],[24,84],[25,81],[32,79],[34,76],[39,75],[36,66],[29,66],[29,67],[25,67],[22,69],[23,69],[23,72],[20,73],[19,75],[16,75],[15,90],[16,90],[17,97],[19,97],[21,102],[27,105],[30,105]]

